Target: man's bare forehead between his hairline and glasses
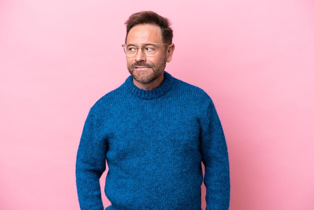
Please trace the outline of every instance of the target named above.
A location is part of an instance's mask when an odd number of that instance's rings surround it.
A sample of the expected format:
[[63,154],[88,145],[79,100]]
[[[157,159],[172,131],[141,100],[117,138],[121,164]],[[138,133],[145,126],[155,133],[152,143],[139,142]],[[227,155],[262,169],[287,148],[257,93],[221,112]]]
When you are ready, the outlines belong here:
[[159,26],[139,24],[132,27],[127,35],[127,43],[161,42],[162,31]]

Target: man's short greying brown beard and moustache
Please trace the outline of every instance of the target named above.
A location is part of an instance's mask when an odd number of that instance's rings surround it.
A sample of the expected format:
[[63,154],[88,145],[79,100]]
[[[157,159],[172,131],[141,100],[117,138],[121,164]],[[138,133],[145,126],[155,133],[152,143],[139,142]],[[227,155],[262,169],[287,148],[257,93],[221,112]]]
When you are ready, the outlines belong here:
[[[144,66],[150,69],[143,71],[134,71],[134,66]],[[152,63],[148,64],[142,61],[137,61],[133,64],[127,65],[127,69],[130,72],[131,76],[134,78],[134,80],[143,84],[149,84],[158,77],[160,77],[164,73],[165,68],[166,59],[161,62],[161,65],[154,65]]]

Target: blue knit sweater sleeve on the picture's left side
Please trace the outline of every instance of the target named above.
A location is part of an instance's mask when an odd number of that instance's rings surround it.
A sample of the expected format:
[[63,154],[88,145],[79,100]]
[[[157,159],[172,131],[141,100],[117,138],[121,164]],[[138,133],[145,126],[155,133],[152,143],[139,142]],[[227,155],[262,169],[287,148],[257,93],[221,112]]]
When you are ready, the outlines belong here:
[[[99,121],[98,121],[99,122]],[[76,157],[76,187],[82,210],[103,210],[99,178],[106,169],[106,143],[99,138],[96,116],[89,111]]]

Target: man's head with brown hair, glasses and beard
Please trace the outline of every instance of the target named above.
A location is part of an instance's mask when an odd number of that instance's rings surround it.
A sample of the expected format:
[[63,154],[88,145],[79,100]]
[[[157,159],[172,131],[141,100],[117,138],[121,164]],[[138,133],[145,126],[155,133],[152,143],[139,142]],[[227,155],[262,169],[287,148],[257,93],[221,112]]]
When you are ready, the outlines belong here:
[[[125,22],[127,68],[135,81],[149,84],[163,79],[175,45],[168,19],[151,11],[134,13]],[[150,44],[149,44],[150,43]]]

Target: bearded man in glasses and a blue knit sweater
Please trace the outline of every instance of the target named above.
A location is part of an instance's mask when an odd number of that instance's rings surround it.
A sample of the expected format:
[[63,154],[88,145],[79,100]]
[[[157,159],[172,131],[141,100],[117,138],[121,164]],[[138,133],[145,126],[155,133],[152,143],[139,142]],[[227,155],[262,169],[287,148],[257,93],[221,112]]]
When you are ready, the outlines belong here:
[[76,162],[81,209],[228,209],[229,161],[210,96],[164,71],[175,50],[166,18],[146,11],[126,21],[130,76],[101,97],[85,121]]

